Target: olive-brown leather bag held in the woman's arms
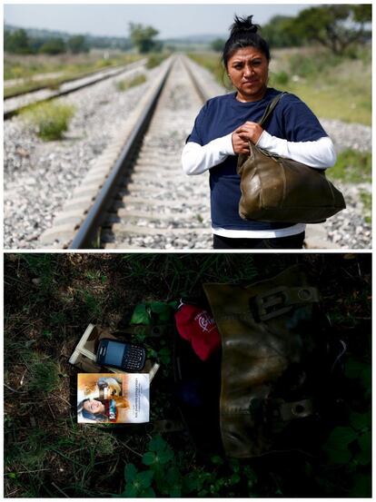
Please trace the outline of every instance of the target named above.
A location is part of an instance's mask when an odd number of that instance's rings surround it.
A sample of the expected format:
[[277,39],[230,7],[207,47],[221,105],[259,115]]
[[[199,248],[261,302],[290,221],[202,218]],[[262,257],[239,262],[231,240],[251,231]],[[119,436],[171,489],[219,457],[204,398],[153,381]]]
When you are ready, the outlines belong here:
[[[268,105],[260,125],[283,94]],[[242,192],[239,214],[244,220],[318,223],[346,207],[324,171],[249,145],[250,154],[239,155],[237,166]]]

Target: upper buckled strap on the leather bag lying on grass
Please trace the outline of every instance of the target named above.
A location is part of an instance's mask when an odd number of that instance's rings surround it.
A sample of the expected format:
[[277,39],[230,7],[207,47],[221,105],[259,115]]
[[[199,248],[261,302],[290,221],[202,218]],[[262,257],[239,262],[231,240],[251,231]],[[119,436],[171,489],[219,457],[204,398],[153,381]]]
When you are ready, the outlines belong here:
[[319,291],[311,286],[287,288],[280,286],[251,299],[260,320],[270,320],[292,310],[295,305],[317,303]]

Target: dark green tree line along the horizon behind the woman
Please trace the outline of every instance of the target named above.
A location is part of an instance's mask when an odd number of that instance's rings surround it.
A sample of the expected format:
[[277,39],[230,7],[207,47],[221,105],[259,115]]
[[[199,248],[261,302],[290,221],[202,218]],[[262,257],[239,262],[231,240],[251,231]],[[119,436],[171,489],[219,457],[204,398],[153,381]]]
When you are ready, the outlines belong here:
[[[322,44],[334,54],[343,54],[351,44],[366,43],[371,40],[371,5],[319,5],[304,9],[299,15],[275,15],[262,26],[262,36],[274,48],[299,47],[304,44]],[[139,53],[159,52],[163,42],[155,40],[159,34],[153,26],[129,24],[129,39],[119,39],[117,48],[136,49]],[[101,37],[102,38],[102,37]],[[5,30],[4,49],[16,54],[73,54],[89,52],[95,47],[114,47],[111,38],[107,42],[84,35],[73,35],[66,40],[61,37],[30,37],[25,30],[14,32]],[[222,51],[224,39],[216,39],[211,45],[214,51]]]

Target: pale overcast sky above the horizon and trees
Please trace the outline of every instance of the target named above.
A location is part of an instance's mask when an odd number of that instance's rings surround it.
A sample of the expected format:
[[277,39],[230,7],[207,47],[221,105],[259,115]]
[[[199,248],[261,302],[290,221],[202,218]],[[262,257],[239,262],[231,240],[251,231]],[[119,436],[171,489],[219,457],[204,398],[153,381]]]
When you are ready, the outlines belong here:
[[262,25],[273,15],[296,15],[310,5],[282,4],[5,4],[7,25],[69,34],[127,36],[129,23],[153,25],[159,38],[190,34],[228,34],[233,15],[254,15]]

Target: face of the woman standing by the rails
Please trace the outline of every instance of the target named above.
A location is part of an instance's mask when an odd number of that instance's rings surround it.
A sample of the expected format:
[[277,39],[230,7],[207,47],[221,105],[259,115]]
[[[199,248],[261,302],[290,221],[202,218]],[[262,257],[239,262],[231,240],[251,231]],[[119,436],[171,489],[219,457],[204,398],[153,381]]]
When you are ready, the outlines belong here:
[[259,49],[238,49],[227,62],[227,73],[238,91],[239,101],[262,99],[268,82],[269,62]]

